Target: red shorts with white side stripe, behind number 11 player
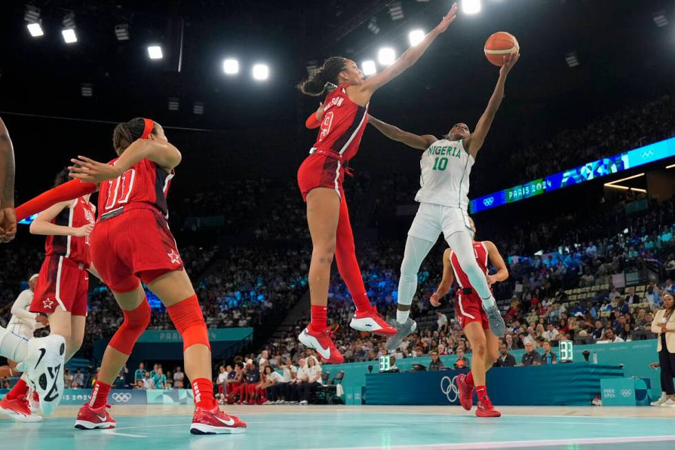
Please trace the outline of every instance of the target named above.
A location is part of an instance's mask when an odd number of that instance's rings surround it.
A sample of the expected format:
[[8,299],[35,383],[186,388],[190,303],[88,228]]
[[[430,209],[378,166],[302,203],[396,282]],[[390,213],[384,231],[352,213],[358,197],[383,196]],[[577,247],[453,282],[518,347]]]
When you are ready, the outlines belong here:
[[73,316],[87,315],[89,274],[83,264],[63,256],[47,256],[40,268],[31,312],[52,314],[57,307]]

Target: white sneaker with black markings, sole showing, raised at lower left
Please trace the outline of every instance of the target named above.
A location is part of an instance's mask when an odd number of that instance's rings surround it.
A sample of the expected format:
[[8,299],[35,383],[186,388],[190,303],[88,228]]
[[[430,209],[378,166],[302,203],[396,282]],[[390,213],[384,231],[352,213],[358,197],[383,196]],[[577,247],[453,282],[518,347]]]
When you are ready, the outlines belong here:
[[63,394],[65,339],[51,334],[28,341],[28,356],[17,366],[28,376],[29,385],[40,397],[40,409],[49,416],[59,406]]

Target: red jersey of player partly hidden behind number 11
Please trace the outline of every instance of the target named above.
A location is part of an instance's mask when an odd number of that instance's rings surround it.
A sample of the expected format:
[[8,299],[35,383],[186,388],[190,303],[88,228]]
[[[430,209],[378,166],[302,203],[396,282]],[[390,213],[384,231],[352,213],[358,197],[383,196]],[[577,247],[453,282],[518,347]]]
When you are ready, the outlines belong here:
[[[72,206],[63,209],[52,223],[63,227],[79,228],[94,223],[96,208],[83,197],[76,198]],[[63,256],[74,263],[89,267],[92,258],[89,255],[89,238],[75,236],[47,236],[45,242],[46,256]]]

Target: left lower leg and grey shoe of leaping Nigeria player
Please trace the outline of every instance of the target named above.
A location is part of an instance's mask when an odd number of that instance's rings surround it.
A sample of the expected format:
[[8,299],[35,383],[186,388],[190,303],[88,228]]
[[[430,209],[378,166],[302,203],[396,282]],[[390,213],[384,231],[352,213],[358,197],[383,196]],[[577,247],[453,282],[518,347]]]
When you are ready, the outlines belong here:
[[413,334],[417,329],[417,323],[410,318],[410,308],[413,304],[415,292],[417,292],[419,266],[422,265],[422,261],[429,254],[433,245],[433,242],[408,234],[403,262],[401,263],[401,277],[398,282],[396,320],[393,322],[396,327],[396,335],[388,338],[385,344],[389,353],[396,351],[403,343],[404,338]]

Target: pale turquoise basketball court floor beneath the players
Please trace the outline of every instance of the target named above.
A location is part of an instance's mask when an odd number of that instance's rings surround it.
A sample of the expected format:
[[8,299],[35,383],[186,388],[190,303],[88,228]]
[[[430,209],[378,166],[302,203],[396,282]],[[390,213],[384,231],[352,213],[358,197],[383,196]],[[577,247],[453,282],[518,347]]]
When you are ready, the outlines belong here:
[[192,436],[191,406],[114,407],[117,428],[73,429],[77,407],[38,424],[0,418],[0,448],[51,450],[459,450],[675,448],[675,409],[503,407],[477,418],[460,407],[248,406],[245,434]]

